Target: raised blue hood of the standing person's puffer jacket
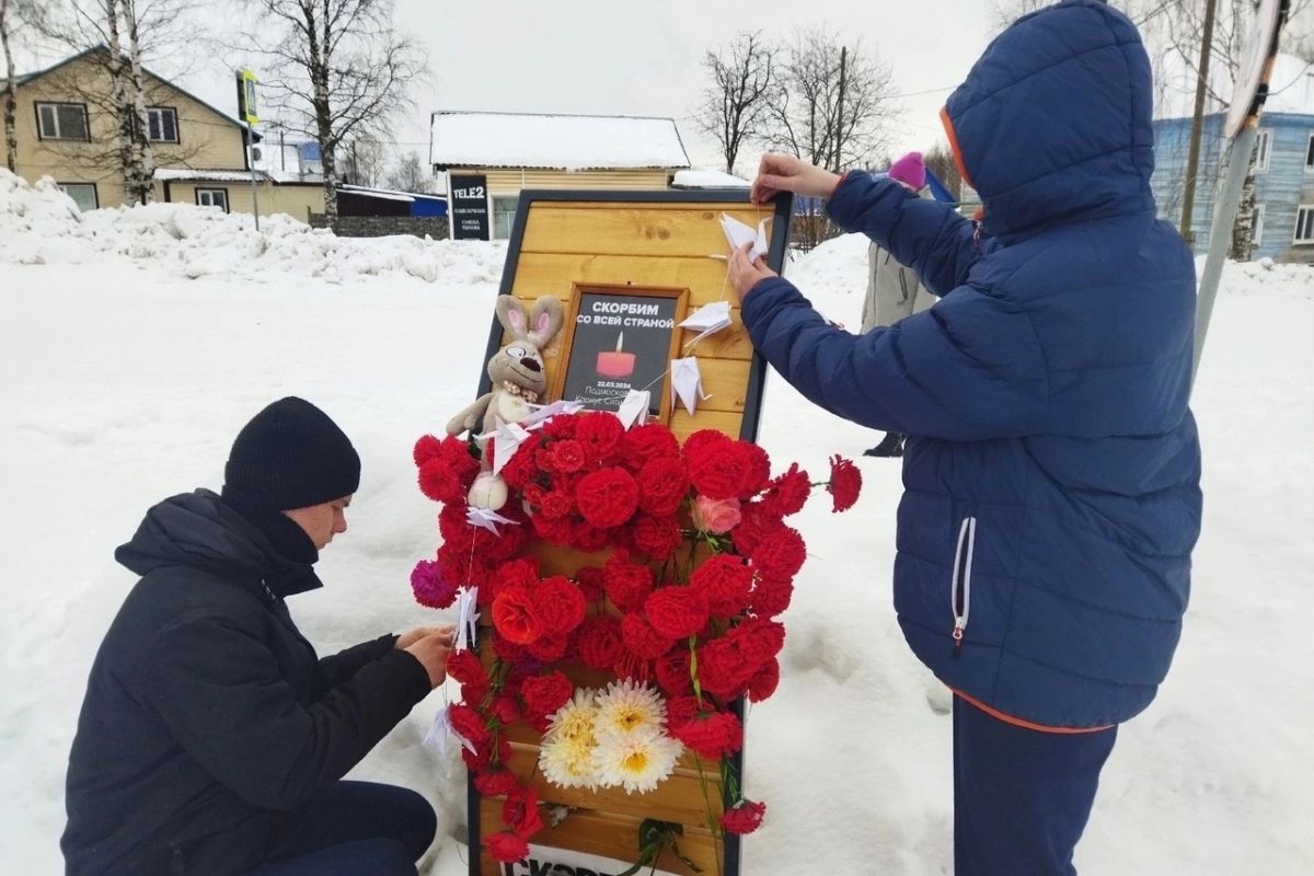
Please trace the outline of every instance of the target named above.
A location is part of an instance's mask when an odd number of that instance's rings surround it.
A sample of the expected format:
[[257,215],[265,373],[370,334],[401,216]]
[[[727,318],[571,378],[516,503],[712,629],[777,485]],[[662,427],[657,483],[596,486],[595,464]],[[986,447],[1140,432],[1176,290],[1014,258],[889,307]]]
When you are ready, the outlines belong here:
[[945,105],[984,230],[1154,210],[1150,58],[1101,0],[1064,0],[995,38]]

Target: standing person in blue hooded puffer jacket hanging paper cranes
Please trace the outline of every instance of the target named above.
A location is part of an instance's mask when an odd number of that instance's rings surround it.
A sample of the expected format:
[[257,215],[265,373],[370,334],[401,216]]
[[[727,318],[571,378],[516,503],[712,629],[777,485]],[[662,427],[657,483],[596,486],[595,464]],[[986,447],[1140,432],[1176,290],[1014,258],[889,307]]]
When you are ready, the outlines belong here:
[[821,407],[908,433],[895,609],[954,693],[959,876],[1075,873],[1117,725],[1172,661],[1200,535],[1196,274],[1155,219],[1150,60],[1100,0],[1020,18],[941,117],[980,225],[769,155],[754,200],[830,217],[942,296],[862,336],[745,252],[757,349]]

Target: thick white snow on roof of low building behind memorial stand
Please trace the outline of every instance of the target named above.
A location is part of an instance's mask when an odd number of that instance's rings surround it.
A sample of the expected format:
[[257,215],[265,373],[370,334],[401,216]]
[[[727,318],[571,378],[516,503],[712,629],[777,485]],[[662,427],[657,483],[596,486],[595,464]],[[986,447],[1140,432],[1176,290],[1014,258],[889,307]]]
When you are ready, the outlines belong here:
[[430,134],[436,167],[689,167],[671,118],[439,112]]

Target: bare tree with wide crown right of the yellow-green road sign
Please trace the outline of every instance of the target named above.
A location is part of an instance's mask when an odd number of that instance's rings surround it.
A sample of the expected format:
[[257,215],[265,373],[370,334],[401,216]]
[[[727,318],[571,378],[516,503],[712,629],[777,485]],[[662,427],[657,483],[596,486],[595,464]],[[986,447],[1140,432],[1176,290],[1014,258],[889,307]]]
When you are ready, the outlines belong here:
[[[264,30],[247,34],[261,81],[288,130],[319,143],[325,214],[338,217],[338,150],[364,137],[388,139],[422,77],[419,45],[393,29],[393,0],[244,0]],[[269,32],[272,25],[272,33]]]

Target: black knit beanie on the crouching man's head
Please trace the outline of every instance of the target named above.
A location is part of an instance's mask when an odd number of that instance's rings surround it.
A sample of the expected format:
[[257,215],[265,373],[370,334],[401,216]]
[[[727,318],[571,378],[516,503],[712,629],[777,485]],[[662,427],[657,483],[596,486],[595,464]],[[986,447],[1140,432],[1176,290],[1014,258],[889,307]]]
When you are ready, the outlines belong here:
[[360,457],[327,414],[288,397],[242,427],[223,481],[226,499],[268,511],[306,508],[355,493]]

